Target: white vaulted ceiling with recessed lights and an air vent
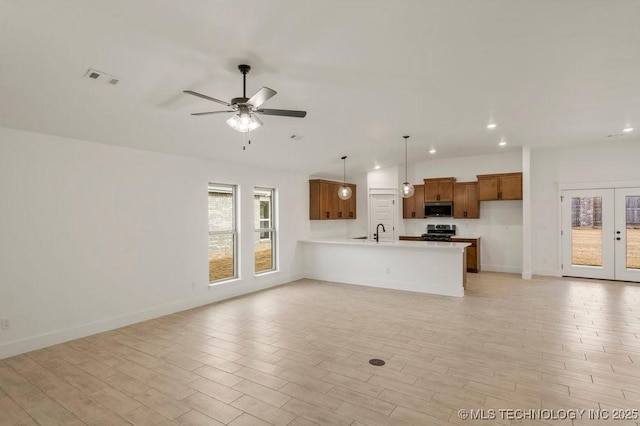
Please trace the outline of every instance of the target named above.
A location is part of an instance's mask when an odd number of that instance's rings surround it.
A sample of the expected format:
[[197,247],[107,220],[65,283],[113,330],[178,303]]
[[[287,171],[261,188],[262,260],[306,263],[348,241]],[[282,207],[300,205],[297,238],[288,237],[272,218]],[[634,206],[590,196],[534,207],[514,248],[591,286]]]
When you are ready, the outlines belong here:
[[[638,0],[0,0],[0,126],[305,174],[640,134]],[[224,108],[278,91],[242,150]],[[83,78],[95,68],[117,86]],[[498,128],[486,125],[495,120]],[[292,135],[297,135],[291,139]],[[508,141],[498,148],[498,141]],[[435,147],[430,156],[426,149]]]

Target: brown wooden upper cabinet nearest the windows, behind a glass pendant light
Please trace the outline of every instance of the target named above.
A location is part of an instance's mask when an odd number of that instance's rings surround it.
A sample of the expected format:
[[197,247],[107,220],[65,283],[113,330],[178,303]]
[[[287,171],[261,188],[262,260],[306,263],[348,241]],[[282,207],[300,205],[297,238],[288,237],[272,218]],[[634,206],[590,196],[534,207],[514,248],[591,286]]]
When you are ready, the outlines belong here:
[[351,198],[341,200],[338,197],[338,189],[341,182],[333,182],[322,179],[309,181],[309,219],[355,219],[356,218],[356,185],[348,183],[351,187]]

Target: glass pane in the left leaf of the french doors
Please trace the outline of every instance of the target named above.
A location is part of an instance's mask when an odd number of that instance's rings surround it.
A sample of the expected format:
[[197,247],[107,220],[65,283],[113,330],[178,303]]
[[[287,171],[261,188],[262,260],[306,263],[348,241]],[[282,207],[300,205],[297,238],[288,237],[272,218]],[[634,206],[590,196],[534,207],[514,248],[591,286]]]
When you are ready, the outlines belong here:
[[571,198],[571,263],[602,266],[602,197]]

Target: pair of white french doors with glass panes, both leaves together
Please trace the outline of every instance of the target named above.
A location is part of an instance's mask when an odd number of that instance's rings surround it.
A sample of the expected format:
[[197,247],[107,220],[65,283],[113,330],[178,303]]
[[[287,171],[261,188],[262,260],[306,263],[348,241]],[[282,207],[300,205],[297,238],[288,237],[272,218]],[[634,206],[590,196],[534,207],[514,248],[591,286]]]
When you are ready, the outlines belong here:
[[640,282],[640,188],[562,191],[562,275]]

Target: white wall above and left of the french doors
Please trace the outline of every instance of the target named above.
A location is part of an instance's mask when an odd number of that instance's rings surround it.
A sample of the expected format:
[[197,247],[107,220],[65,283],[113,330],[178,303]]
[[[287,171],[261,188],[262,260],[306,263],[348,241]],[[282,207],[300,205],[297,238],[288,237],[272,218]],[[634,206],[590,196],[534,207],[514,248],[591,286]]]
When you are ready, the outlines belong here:
[[532,268],[560,275],[558,184],[640,180],[638,138],[531,150]]

